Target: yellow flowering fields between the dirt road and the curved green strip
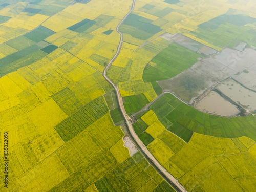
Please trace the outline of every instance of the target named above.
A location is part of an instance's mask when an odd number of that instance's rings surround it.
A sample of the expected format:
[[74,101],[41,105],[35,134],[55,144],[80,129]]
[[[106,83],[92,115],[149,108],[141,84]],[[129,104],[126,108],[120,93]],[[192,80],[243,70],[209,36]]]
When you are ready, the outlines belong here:
[[[166,98],[171,98],[171,96]],[[181,104],[176,109],[186,111],[187,114],[190,112],[185,105]],[[192,118],[191,115],[188,116]],[[194,115],[195,117],[196,115]],[[159,122],[153,111],[145,113],[140,120],[148,125],[151,124],[150,126]],[[135,123],[135,131],[138,128],[138,123]],[[179,182],[188,191],[193,191],[195,187],[198,190],[206,191],[211,191],[212,188],[223,191],[228,191],[230,188],[232,190],[250,188],[250,184],[245,185],[245,181],[237,179],[237,177],[245,174],[247,175],[246,180],[251,183],[250,175],[256,168],[253,158],[255,141],[252,139],[244,136],[232,139],[217,138],[194,133],[186,143],[184,137],[182,140],[182,136],[178,137],[168,131],[169,129],[164,129],[157,137],[151,137],[149,140],[150,134],[146,133],[148,129],[143,133],[137,133],[138,136],[159,163],[176,179],[179,179]],[[244,164],[242,165],[242,163]],[[251,168],[248,169],[250,166]]]

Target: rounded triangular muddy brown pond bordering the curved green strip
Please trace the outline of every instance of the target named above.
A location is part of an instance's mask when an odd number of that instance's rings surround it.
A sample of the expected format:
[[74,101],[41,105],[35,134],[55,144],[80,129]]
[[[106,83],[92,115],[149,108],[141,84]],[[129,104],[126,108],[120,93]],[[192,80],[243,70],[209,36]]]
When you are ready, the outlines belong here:
[[226,101],[215,91],[210,91],[196,100],[194,107],[199,111],[220,116],[233,116],[240,113],[235,105]]

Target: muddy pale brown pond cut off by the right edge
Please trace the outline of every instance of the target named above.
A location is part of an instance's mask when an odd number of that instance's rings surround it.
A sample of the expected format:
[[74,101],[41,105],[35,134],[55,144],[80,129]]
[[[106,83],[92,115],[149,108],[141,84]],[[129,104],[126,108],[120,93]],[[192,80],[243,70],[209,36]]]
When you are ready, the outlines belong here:
[[245,109],[250,111],[256,110],[256,93],[246,89],[236,81],[228,79],[218,84],[216,88]]

